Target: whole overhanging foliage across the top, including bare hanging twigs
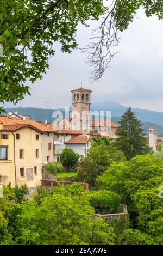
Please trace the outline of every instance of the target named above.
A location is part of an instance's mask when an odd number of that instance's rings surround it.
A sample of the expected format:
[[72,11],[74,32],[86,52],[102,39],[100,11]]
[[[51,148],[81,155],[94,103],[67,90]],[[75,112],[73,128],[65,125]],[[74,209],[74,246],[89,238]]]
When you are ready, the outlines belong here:
[[147,17],[163,17],[160,0],[0,0],[0,5],[0,102],[16,103],[29,93],[27,80],[42,78],[54,42],[63,52],[76,48],[79,23],[88,26],[87,21],[105,16],[85,49],[91,78],[98,80],[115,56],[118,31],[128,28],[137,9],[143,7]]

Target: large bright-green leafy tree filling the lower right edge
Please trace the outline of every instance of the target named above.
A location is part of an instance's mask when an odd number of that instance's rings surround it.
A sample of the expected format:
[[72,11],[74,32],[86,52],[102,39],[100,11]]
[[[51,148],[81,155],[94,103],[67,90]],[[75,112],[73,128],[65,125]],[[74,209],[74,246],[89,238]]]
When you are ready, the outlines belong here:
[[162,160],[142,155],[125,163],[113,163],[97,181],[101,189],[120,194],[135,229],[152,237],[157,245],[163,244],[163,201],[159,197],[159,187],[163,184]]

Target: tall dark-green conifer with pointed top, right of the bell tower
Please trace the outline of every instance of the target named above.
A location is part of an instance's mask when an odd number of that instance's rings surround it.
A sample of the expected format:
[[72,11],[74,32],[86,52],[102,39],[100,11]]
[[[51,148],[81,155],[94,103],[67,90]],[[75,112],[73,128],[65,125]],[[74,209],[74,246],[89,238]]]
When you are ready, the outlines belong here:
[[149,152],[141,126],[141,121],[136,118],[135,113],[129,107],[122,115],[120,126],[116,131],[118,138],[115,139],[116,147],[123,151],[127,160]]

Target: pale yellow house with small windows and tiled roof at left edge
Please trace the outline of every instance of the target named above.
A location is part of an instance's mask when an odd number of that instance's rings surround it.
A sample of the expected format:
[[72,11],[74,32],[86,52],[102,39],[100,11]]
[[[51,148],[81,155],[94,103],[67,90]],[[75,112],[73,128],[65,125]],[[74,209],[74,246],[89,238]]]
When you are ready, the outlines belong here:
[[[1,120],[1,117],[0,117]],[[28,188],[42,179],[42,134],[31,125],[0,125],[0,179],[3,185]]]

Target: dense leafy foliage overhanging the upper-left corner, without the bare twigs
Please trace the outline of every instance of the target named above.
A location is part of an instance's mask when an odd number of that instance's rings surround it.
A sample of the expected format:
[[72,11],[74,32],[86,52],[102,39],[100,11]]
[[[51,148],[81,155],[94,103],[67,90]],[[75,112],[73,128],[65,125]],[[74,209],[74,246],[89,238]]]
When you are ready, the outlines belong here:
[[54,42],[70,53],[77,47],[77,25],[98,20],[105,11],[102,0],[1,0],[0,4],[0,102],[17,102],[29,94],[26,81],[42,78],[55,53]]

